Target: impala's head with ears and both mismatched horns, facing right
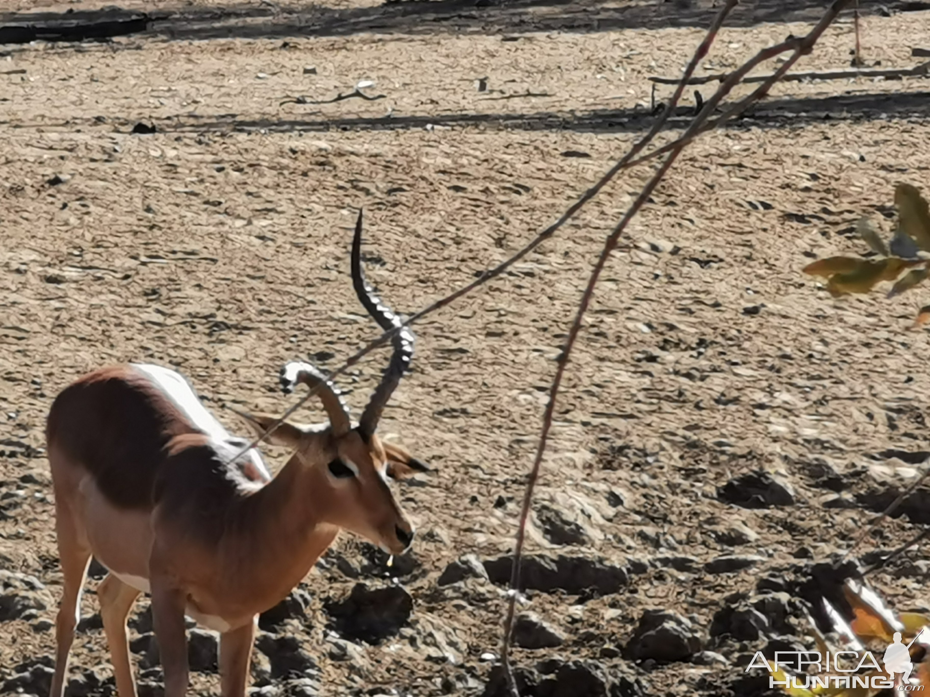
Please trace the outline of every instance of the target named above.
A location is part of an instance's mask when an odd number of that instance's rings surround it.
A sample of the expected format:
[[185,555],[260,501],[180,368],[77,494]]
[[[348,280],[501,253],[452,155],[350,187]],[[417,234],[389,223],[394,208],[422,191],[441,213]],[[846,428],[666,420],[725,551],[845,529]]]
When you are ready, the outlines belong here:
[[[365,283],[361,246],[360,213],[352,242],[352,284],[368,314],[382,329],[393,329],[401,322]],[[403,448],[382,441],[375,432],[385,404],[410,364],[413,344],[414,335],[407,328],[393,335],[391,362],[354,427],[338,390],[324,375],[309,363],[287,363],[281,369],[284,390],[290,392],[301,383],[311,388],[323,402],[329,423],[300,426],[285,422],[266,439],[292,448],[292,461],[296,459],[306,467],[313,506],[321,522],[361,535],[391,554],[400,554],[410,546],[414,528],[389,483],[429,471]],[[265,414],[246,418],[259,433],[277,420]]]

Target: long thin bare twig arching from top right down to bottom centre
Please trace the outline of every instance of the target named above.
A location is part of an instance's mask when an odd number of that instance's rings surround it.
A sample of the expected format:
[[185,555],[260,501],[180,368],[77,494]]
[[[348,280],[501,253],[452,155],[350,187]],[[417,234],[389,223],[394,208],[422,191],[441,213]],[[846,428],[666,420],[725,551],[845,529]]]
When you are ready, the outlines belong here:
[[[775,72],[772,75],[771,81],[766,82],[764,85],[761,85],[752,93],[752,96],[754,97],[754,99],[759,99],[760,97],[762,97],[768,91],[771,85],[773,85],[778,80],[778,78],[782,74],[784,74],[784,72],[787,72],[788,70],[790,70],[790,67],[797,61],[797,59],[799,59],[804,54],[810,53],[812,46],[814,46],[814,44],[817,43],[817,39],[827,29],[827,27],[830,26],[830,23],[836,18],[836,16],[843,9],[844,5],[846,5],[848,2],[850,2],[850,0],[835,0],[833,5],[824,15],[823,19],[821,19],[817,23],[817,26],[815,26],[814,29],[811,30],[810,33],[804,36],[804,38],[790,39],[789,41],[784,42],[783,44],[777,47],[773,47],[771,49],[768,49],[767,51],[761,52],[760,55],[768,55],[769,58],[773,58],[778,53],[782,53],[784,51],[793,49],[793,54],[791,55],[790,59],[786,60],[785,63],[779,69],[779,71]],[[697,66],[697,62],[707,55],[707,52],[710,49],[711,43],[713,42],[713,39],[716,36],[717,29],[719,29],[720,25],[723,23],[724,17],[731,7],[732,6],[728,4],[726,7],[724,7],[724,9],[721,10],[721,13],[716,18],[714,25],[711,26],[711,29],[708,31],[708,35],[705,37],[704,42],[701,44],[701,46],[698,46],[695,56],[688,66],[688,71],[685,71],[684,78],[681,84],[679,85],[678,89],[675,91],[676,98],[680,97],[681,93],[684,91],[686,80],[690,75],[689,71],[693,72],[694,68]],[[750,61],[750,63],[752,63],[752,61]],[[568,363],[568,360],[571,356],[571,351],[574,348],[575,342],[578,338],[578,333],[581,330],[581,323],[584,320],[584,315],[586,314],[588,310],[588,306],[591,303],[591,296],[593,296],[594,287],[597,284],[598,279],[600,278],[601,271],[604,270],[604,265],[606,264],[607,258],[610,256],[610,253],[617,246],[620,235],[623,234],[623,231],[626,230],[627,225],[630,223],[631,219],[636,216],[636,214],[639,212],[640,208],[648,200],[652,192],[655,191],[656,187],[658,186],[658,183],[662,180],[662,178],[665,177],[666,172],[668,172],[671,165],[674,164],[679,154],[681,154],[681,152],[684,150],[687,144],[691,142],[691,140],[697,136],[697,134],[701,131],[702,126],[707,125],[705,122],[707,122],[707,120],[709,119],[711,112],[713,111],[715,105],[721,99],[723,99],[726,93],[728,93],[735,85],[737,85],[737,83],[739,82],[743,74],[751,70],[752,65],[747,64],[743,68],[745,69],[745,71],[741,69],[733,73],[733,76],[731,76],[724,83],[724,85],[720,86],[720,88],[717,90],[717,93],[715,93],[713,97],[711,97],[711,99],[709,99],[704,104],[704,108],[701,109],[700,112],[697,114],[694,122],[684,132],[684,135],[682,136],[682,138],[679,138],[678,140],[675,141],[675,143],[672,144],[671,152],[669,156],[659,166],[656,174],[653,175],[653,177],[649,179],[649,181],[644,186],[643,191],[640,192],[639,196],[637,196],[636,200],[627,210],[626,214],[619,221],[617,227],[614,228],[610,236],[604,242],[604,248],[601,252],[601,255],[598,257],[597,263],[594,265],[594,269],[591,271],[591,276],[588,279],[588,284],[578,304],[578,312],[575,316],[575,321],[572,323],[572,327],[569,330],[568,337],[565,340],[565,347],[562,350],[562,354],[559,356],[558,367],[556,368],[555,376],[552,378],[552,384],[551,384],[551,388],[549,391],[549,401],[546,404],[546,410],[545,410],[545,413],[543,414],[542,427],[539,433],[539,442],[538,442],[536,457],[533,460],[532,467],[530,467],[528,480],[526,482],[523,506],[520,511],[520,519],[519,519],[518,527],[517,527],[516,545],[514,547],[513,561],[512,561],[512,567],[511,567],[511,589],[510,589],[510,595],[509,595],[509,600],[508,600],[508,605],[507,605],[507,617],[504,622],[503,648],[501,650],[501,661],[504,666],[504,674],[508,679],[510,690],[512,692],[513,697],[520,697],[519,691],[517,690],[516,681],[513,678],[512,666],[510,664],[510,650],[511,650],[513,617],[516,612],[516,604],[517,604],[517,600],[520,594],[520,568],[521,568],[521,562],[523,559],[523,549],[525,546],[525,539],[526,539],[526,525],[529,519],[530,507],[532,506],[533,493],[534,493],[536,483],[539,478],[539,471],[542,466],[542,458],[546,452],[546,445],[549,440],[549,433],[551,431],[552,415],[554,414],[554,410],[555,410],[556,398],[558,397],[559,388],[561,388],[561,385],[562,385],[562,378],[565,375],[565,366]],[[745,106],[748,105],[749,102],[744,99],[738,102],[738,104],[742,104],[743,108],[745,108]],[[674,107],[675,107],[675,101],[672,100],[669,106],[667,107],[665,114],[668,115],[669,113],[671,113]],[[731,108],[728,112],[724,113],[722,117],[715,120],[715,123],[723,123],[723,121],[726,118],[729,118],[731,115],[735,113],[736,112],[734,108]]]

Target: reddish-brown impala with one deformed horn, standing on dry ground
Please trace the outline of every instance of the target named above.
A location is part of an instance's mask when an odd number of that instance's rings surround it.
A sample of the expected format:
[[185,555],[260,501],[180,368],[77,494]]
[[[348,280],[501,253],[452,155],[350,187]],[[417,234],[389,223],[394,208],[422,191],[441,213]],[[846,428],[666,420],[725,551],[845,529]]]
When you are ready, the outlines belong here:
[[[396,328],[400,320],[365,283],[361,243],[360,213],[352,284],[368,314]],[[274,478],[258,451],[233,438],[172,370],[113,366],[65,388],[46,425],[64,576],[51,697],[64,687],[91,556],[109,570],[97,596],[120,697],[136,695],[126,616],[143,592],[152,596],[166,697],[183,697],[188,687],[185,615],[219,632],[221,693],[242,697],[259,612],[286,597],[340,529],[403,553],[414,528],[388,480],[428,470],[375,429],[413,344],[407,328],[393,335],[391,362],[354,426],[323,375],[287,363],[282,388],[317,389],[328,423],[272,431],[269,442],[293,450]],[[240,415],[259,434],[276,421]]]

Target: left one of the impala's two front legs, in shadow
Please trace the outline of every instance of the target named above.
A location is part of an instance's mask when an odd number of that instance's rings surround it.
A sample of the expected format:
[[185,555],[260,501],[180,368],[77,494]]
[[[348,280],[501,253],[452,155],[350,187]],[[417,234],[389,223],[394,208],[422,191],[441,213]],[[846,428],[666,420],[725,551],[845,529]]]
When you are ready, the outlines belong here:
[[152,579],[152,620],[165,671],[165,697],[185,697],[188,684],[186,596],[166,579]]

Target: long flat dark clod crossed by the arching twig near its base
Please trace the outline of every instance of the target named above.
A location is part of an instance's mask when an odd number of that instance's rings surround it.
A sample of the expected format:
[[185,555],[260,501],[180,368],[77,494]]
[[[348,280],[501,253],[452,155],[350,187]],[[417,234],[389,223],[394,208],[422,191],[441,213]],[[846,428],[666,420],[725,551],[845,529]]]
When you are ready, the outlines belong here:
[[[510,583],[512,567],[510,555],[485,561],[488,578],[498,585]],[[627,585],[629,576],[623,567],[601,559],[532,555],[523,558],[520,580],[522,587],[545,593],[562,590],[569,595],[579,595],[593,589],[601,595],[609,595]]]

